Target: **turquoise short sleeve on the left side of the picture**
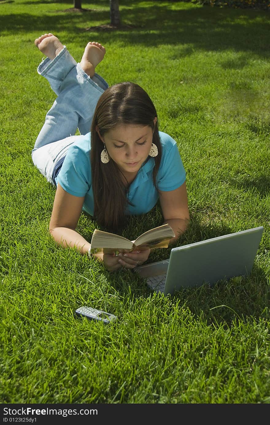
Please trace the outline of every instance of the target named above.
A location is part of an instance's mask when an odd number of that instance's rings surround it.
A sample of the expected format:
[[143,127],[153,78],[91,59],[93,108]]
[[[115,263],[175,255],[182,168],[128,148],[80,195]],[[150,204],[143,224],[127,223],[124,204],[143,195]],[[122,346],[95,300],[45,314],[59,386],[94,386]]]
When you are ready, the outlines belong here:
[[78,146],[71,146],[57,181],[71,195],[85,196],[91,187],[90,155],[86,155]]

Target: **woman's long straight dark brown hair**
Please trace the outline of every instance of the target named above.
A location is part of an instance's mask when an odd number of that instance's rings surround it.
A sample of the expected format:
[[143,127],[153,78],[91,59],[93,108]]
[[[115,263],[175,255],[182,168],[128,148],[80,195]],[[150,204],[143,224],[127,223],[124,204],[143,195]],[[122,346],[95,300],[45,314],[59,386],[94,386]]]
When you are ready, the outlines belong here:
[[[91,126],[91,168],[94,193],[94,218],[107,229],[116,230],[125,223],[128,207],[128,187],[122,180],[117,164],[110,159],[107,164],[100,160],[104,145],[99,138],[118,124],[149,125],[153,130],[153,143],[158,148],[154,158],[153,184],[157,189],[156,175],[159,169],[162,148],[159,139],[156,108],[148,94],[137,84],[115,84],[100,96]],[[150,157],[148,156],[148,159]],[[146,161],[148,161],[148,159]]]

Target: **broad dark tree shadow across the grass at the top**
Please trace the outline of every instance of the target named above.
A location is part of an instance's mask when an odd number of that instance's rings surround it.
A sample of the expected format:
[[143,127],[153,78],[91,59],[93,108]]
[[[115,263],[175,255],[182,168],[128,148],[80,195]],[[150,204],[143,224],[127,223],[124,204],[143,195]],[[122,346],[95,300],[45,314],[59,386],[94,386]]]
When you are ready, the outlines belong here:
[[[45,1],[42,0],[41,3]],[[28,13],[2,14],[0,17],[1,32],[23,34],[31,28],[31,31],[40,34],[44,28],[50,28],[55,33],[57,31],[75,32],[72,34],[72,40],[76,41],[77,37],[79,42],[82,32],[91,28],[91,21],[100,21],[102,25],[106,25],[110,20],[109,9],[92,10],[89,14],[66,12],[61,14],[61,18],[57,15],[58,13],[51,11],[43,16],[34,16]],[[85,18],[86,15],[87,18]],[[117,40],[125,42],[125,44],[148,47],[160,44],[177,45],[171,59],[190,55],[192,47],[204,51],[226,49],[248,51],[262,57],[270,55],[267,37],[269,17],[264,12],[209,7],[172,10],[162,4],[147,7],[135,4],[132,8],[127,7],[121,10],[121,20],[123,25],[131,24],[139,28],[102,31],[103,43],[107,40],[110,42]],[[85,23],[84,28],[82,28],[83,23]],[[86,31],[87,33],[88,31]],[[89,34],[85,37],[88,38]],[[63,41],[68,42],[68,40]],[[182,45],[188,46],[183,48]],[[236,61],[225,62],[223,66],[228,69],[239,69],[245,65],[246,60],[242,55]]]

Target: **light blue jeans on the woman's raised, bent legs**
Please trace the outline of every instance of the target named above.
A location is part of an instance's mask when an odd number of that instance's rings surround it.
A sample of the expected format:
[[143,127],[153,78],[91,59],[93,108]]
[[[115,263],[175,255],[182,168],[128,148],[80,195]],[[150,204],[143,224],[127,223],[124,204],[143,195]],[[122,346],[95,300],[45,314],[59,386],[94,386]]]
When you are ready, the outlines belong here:
[[80,134],[90,131],[97,101],[108,84],[98,74],[90,78],[65,46],[53,60],[48,57],[43,60],[37,72],[48,80],[57,99],[37,136],[32,161],[47,181],[54,184],[51,176],[55,164],[75,142],[77,128]]

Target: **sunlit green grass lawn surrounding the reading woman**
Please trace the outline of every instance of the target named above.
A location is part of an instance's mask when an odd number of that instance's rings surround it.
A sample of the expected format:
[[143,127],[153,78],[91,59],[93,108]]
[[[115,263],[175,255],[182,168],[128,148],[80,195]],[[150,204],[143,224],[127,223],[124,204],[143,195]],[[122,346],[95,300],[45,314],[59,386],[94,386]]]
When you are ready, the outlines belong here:
[[[83,1],[83,13],[71,6],[0,2],[0,401],[269,403],[269,13],[121,0],[123,27],[105,31],[108,0]],[[109,85],[130,80],[151,96],[187,173],[191,222],[179,245],[264,226],[250,278],[163,297],[128,270],[109,273],[56,246],[55,189],[31,162],[55,99],[36,72],[34,39],[45,32],[77,61],[88,41],[101,42],[97,72]],[[157,205],[122,235],[161,223]],[[89,241],[95,227],[81,216]],[[76,320],[80,305],[119,320]]]

